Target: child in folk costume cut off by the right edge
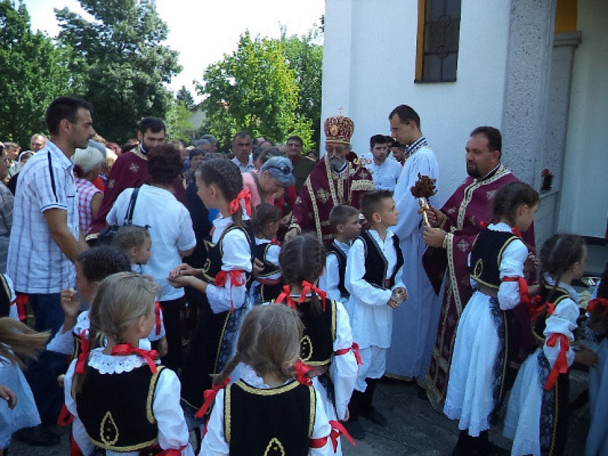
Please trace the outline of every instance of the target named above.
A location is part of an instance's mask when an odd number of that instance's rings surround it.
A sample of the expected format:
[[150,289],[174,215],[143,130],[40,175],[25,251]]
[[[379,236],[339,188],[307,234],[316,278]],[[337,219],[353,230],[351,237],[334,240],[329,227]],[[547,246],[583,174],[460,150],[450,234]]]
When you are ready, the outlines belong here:
[[587,304],[591,314],[590,329],[595,333],[597,366],[589,370],[589,404],[591,426],[587,436],[585,455],[600,456],[608,453],[608,264],[602,281],[597,285],[597,296]]

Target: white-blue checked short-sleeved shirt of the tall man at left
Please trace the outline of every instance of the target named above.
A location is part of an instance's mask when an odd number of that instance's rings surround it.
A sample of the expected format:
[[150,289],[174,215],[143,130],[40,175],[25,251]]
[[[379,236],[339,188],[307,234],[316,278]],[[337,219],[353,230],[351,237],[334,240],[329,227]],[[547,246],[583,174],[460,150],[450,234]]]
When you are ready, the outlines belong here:
[[78,198],[74,163],[52,141],[19,174],[7,268],[16,291],[51,294],[76,283],[74,264],[51,237],[44,213],[66,211],[67,228],[78,240]]

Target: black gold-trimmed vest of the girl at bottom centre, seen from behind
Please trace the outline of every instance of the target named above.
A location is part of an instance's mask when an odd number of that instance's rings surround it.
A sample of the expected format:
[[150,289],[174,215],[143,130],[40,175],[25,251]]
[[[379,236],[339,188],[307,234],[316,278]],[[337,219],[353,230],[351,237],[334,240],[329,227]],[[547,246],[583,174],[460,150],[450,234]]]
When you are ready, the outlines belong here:
[[268,390],[239,380],[226,387],[230,456],[305,456],[315,426],[315,390],[293,381]]

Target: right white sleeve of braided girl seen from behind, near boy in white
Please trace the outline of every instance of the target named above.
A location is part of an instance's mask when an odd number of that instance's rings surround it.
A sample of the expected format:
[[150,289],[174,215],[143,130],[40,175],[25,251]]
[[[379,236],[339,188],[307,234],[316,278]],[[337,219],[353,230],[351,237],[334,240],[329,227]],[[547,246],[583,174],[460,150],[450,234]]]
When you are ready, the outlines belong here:
[[352,351],[353,332],[349,322],[349,314],[346,313],[344,305],[336,301],[336,340],[334,341],[334,353],[338,350],[349,349],[342,355],[334,355],[332,364],[329,366],[329,377],[334,383],[334,395],[336,414],[338,419],[346,417],[346,407],[353,394],[353,388],[357,380],[358,365]]

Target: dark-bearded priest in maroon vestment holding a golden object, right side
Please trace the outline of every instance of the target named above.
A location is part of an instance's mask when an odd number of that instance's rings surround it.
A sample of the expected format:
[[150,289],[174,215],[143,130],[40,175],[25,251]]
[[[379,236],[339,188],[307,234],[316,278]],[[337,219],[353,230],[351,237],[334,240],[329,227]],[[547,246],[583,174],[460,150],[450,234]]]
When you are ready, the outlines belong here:
[[[501,148],[502,137],[498,129],[478,127],[472,131],[466,147],[469,177],[440,211],[433,208],[429,218],[434,221],[435,228],[426,228],[423,233],[423,240],[429,246],[423,264],[435,293],[439,293],[447,269],[438,332],[425,381],[428,398],[440,412],[448,389],[458,321],[473,293],[469,283],[469,253],[479,232],[491,222],[496,191],[508,182],[518,180],[501,163]],[[534,250],[532,227],[522,234],[522,240]],[[532,323],[521,305],[509,312],[513,328],[509,351],[512,359],[522,360],[530,344],[534,344]]]

